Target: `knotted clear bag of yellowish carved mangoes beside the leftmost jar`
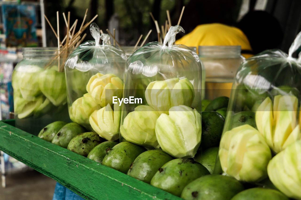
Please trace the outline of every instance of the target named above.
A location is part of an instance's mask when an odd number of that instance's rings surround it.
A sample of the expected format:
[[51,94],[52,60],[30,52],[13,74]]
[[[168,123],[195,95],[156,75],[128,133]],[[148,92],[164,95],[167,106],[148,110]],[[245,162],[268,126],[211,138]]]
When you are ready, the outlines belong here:
[[95,23],[90,32],[95,41],[79,45],[65,62],[69,115],[73,122],[113,141],[119,138],[121,111],[112,97],[122,98],[127,57],[108,44],[110,36],[100,35]]

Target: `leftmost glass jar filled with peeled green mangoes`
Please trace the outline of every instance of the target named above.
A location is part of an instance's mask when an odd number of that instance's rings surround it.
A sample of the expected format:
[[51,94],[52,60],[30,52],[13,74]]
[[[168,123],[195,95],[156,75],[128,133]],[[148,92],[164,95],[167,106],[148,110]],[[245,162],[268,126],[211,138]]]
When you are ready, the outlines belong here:
[[67,53],[58,48],[23,48],[23,60],[12,74],[17,128],[37,135],[49,123],[70,121],[64,74],[66,58]]

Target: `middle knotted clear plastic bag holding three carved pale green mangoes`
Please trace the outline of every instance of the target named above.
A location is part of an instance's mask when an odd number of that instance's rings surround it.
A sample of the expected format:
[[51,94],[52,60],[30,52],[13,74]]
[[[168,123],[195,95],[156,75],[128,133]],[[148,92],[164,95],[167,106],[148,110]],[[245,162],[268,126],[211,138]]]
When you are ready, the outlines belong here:
[[201,64],[193,50],[173,45],[180,31],[172,26],[163,44],[148,43],[127,59],[123,98],[137,101],[123,104],[120,132],[121,141],[182,158],[200,145]]

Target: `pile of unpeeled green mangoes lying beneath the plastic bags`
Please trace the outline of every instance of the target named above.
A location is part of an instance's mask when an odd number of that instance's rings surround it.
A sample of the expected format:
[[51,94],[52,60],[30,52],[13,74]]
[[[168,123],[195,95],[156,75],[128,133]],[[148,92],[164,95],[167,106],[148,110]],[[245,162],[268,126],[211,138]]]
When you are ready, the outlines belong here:
[[[202,144],[193,159],[174,158],[162,150],[147,150],[128,141],[105,141],[77,123],[51,123],[38,137],[184,199],[287,199],[269,180],[254,187],[214,170],[216,164],[220,165],[216,158],[228,101],[228,97],[203,100]],[[252,125],[252,117],[240,113],[234,117],[235,126]]]

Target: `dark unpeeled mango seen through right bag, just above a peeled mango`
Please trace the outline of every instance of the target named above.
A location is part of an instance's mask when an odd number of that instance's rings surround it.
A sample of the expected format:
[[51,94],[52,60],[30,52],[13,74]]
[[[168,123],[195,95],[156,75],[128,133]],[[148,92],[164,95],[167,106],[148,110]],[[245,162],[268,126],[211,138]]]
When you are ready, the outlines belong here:
[[244,124],[249,124],[256,129],[255,113],[252,111],[241,111],[231,117],[231,129],[241,126]]

